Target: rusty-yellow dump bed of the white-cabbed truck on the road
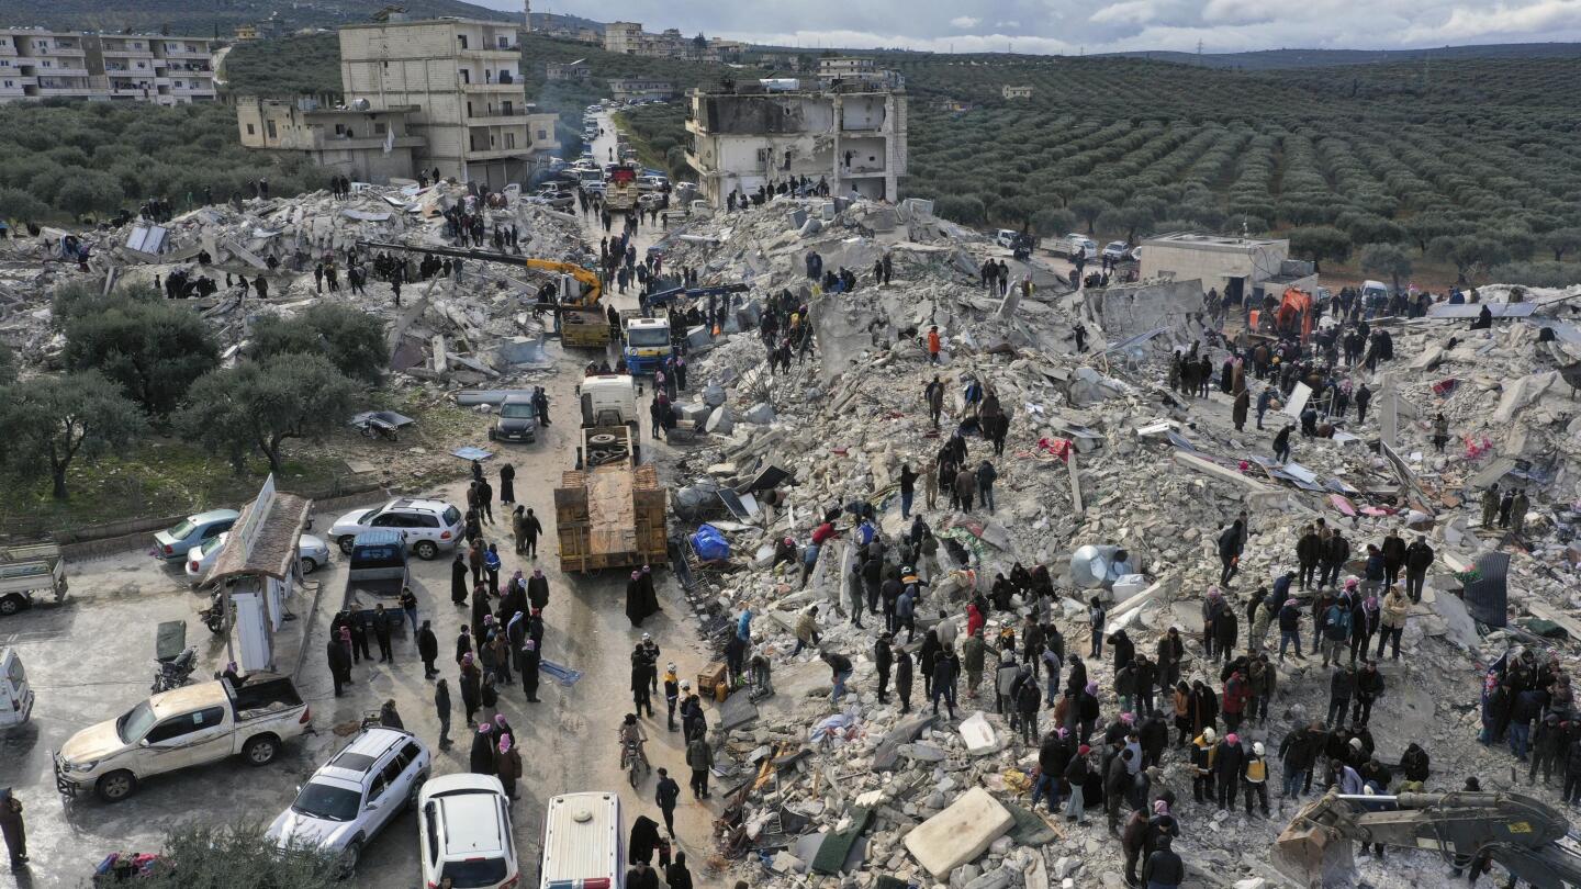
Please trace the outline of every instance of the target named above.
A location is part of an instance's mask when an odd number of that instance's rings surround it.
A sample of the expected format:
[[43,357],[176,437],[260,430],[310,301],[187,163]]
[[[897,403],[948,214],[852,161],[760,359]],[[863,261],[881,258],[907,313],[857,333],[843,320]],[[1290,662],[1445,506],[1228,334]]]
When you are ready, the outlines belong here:
[[582,430],[577,468],[555,489],[561,571],[669,563],[664,487],[658,470],[639,459],[629,426]]

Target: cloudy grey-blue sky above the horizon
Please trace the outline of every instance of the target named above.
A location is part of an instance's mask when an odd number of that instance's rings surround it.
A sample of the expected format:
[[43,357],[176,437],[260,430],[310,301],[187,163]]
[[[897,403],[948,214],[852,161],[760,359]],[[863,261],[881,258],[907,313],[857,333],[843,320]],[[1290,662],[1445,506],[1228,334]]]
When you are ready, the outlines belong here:
[[[520,9],[515,0],[473,0]],[[1077,54],[1581,40],[1581,0],[534,0],[533,9],[787,46]]]

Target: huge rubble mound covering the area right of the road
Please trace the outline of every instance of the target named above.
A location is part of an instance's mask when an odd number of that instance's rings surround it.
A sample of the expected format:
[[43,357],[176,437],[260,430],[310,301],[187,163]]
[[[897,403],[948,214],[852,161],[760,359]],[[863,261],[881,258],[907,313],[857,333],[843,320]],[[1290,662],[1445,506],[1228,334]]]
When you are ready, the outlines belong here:
[[[1262,418],[1262,430],[1247,418],[1236,432],[1233,397],[1219,388],[1217,372],[1205,399],[1167,383],[1176,350],[1202,345],[1216,369],[1227,354],[1203,335],[1202,318],[1178,285],[1070,293],[1040,261],[1006,258],[1017,286],[1001,296],[982,286],[977,269],[1006,252],[968,233],[941,236],[941,228],[949,229],[911,206],[776,199],[694,221],[664,245],[669,266],[702,269],[705,283],[751,288],[740,321],[726,327],[745,332],[688,356],[697,384],[681,394],[678,414],[705,419],[713,435],[680,451],[674,498],[688,533],[707,520],[732,544],[727,565],[692,577],[692,601],[713,615],[705,626],[723,639],[734,620],[719,617],[751,607],[751,650],[773,671],[776,693],[756,701],[751,717],[726,718],[723,726],[741,778],[723,832],[743,875],[767,873],[762,884],[772,886],[840,886],[851,876],[858,886],[895,878],[952,889],[1123,883],[1121,849],[1104,832],[1100,811],[1089,811],[1081,827],[1031,813],[1037,748],[1021,743],[993,712],[993,656],[975,699],[968,699],[961,680],[955,720],[933,717],[922,677],[912,712],[903,713],[893,688],[887,702],[877,694],[873,650],[882,615],[863,615],[860,630],[849,620],[851,585],[860,585],[852,579],[854,513],[871,505],[879,535],[898,541],[911,525],[900,514],[901,467],[925,471],[960,424],[966,424],[966,465],[990,460],[998,471],[996,508],[977,505],[963,514],[950,508],[944,489],[930,508],[925,482],[917,481],[912,513],[944,546],[938,563],[923,558],[907,566],[928,581],[917,633],[907,637],[912,652],[944,623],[964,639],[966,600],[987,593],[998,574],[1010,574],[1017,563],[1045,565],[1058,598],[1039,603],[1017,595],[1010,611],[990,615],[990,644],[999,626],[1020,626],[1031,612],[1059,626],[1067,652],[1086,653],[1086,604],[1097,596],[1108,611],[1107,633],[1126,630],[1137,652],[1149,656],[1165,630],[1178,626],[1187,639],[1181,679],[1202,679],[1217,691],[1219,663],[1208,661],[1200,644],[1202,603],[1221,585],[1217,541],[1240,513],[1247,543],[1238,576],[1224,585],[1238,614],[1252,590],[1296,569],[1296,539],[1319,519],[1350,541],[1342,576],[1360,576],[1366,546],[1385,535],[1423,535],[1437,558],[1410,609],[1404,660],[1380,664],[1390,691],[1371,721],[1379,758],[1391,764],[1418,742],[1434,758],[1429,789],[1456,789],[1472,774],[1485,789],[1508,786],[1499,775],[1508,770],[1497,767],[1507,753],[1475,740],[1480,669],[1511,645],[1557,645],[1575,664],[1573,649],[1551,628],[1581,639],[1581,622],[1568,615],[1581,607],[1573,592],[1581,560],[1573,543],[1581,400],[1559,372],[1581,359],[1581,346],[1559,321],[1573,293],[1527,291],[1524,299],[1538,302],[1534,316],[1492,329],[1469,331],[1464,320],[1377,320],[1393,331],[1396,357],[1375,372],[1341,370],[1375,392],[1366,422],[1352,411],[1331,438],[1295,433],[1292,460],[1281,463],[1271,459],[1271,438],[1298,424],[1298,405],[1289,414],[1276,407]],[[806,275],[809,252],[819,253],[825,270],[857,272],[855,291],[821,293]],[[885,253],[893,280],[877,285],[873,266]],[[1028,278],[1031,293],[1018,286]],[[1488,299],[1510,293],[1481,289]],[[817,346],[775,372],[749,327],[781,291],[808,307]],[[1075,351],[1078,324],[1096,348]],[[931,326],[944,343],[938,365],[925,345]],[[1562,335],[1538,343],[1543,326]],[[707,337],[691,342],[707,345]],[[936,375],[947,392],[938,429],[923,397]],[[1266,384],[1249,383],[1254,397]],[[980,402],[969,402],[968,392],[979,386],[1010,416],[1002,456],[975,432]],[[1432,444],[1440,410],[1451,429],[1443,454]],[[716,422],[721,416],[732,422]],[[1391,427],[1388,446],[1375,443],[1380,422]],[[764,481],[779,473],[783,484]],[[1483,527],[1478,498],[1492,482],[1529,486],[1532,506],[1519,538]],[[825,514],[841,508],[836,527],[844,533],[822,547],[805,582],[800,555],[775,565],[776,543],[790,538],[806,546]],[[1085,546],[1110,547],[1105,554],[1124,549],[1126,576],[1094,582],[1085,565],[1073,571],[1072,554]],[[1481,614],[1478,623],[1464,587],[1478,579],[1499,585],[1480,562],[1488,554],[1510,562],[1497,619]],[[1304,607],[1311,592],[1292,587],[1292,595],[1301,595]],[[1497,628],[1505,622],[1502,596],[1510,625]],[[817,606],[819,645],[792,655],[811,606]],[[1244,617],[1240,634],[1236,653],[1251,634]],[[1309,614],[1303,639],[1312,641]],[[1265,645],[1274,650],[1276,630]],[[838,707],[828,701],[832,671],[819,650],[854,664],[851,694]],[[1105,653],[1088,660],[1086,671],[1099,683],[1102,732],[1118,715],[1113,661]],[[1276,772],[1274,750],[1285,732],[1325,715],[1330,677],[1317,656],[1285,660],[1277,672],[1270,717],[1240,731],[1247,747],[1266,743]],[[1157,706],[1170,721],[1167,696]],[[726,712],[740,713],[729,706]],[[1051,726],[1051,713],[1043,710],[1042,720],[1040,732]],[[1190,766],[1175,750],[1154,777],[1154,796],[1165,788],[1176,794],[1183,823],[1175,848],[1197,884],[1281,883],[1268,864],[1268,843],[1296,805],[1277,799],[1277,810],[1268,819],[1246,818],[1238,805],[1230,811],[1197,805],[1189,796]],[[1553,786],[1523,786],[1523,793],[1557,800]],[[1363,878],[1412,886],[1442,876],[1437,859],[1424,854],[1391,853],[1388,862],[1385,868],[1363,859]]]

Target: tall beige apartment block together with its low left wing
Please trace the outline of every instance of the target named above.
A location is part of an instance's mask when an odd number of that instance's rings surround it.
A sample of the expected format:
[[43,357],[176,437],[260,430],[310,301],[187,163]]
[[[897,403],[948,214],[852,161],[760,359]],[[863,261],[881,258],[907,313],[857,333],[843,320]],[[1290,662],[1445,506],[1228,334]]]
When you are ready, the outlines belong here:
[[438,169],[490,190],[526,182],[560,147],[555,115],[522,82],[519,25],[473,19],[340,28],[345,104],[253,100],[237,106],[242,144],[304,150],[370,182]]

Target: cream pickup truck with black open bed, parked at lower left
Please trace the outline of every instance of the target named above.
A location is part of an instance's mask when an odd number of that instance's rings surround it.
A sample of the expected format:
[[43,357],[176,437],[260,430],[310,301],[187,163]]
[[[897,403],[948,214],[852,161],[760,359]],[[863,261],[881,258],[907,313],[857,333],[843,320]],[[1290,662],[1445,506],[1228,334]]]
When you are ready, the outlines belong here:
[[144,778],[240,755],[267,766],[280,745],[307,731],[313,712],[291,680],[253,674],[155,694],[123,715],[71,736],[55,751],[55,788],[66,797],[92,789],[120,802]]

